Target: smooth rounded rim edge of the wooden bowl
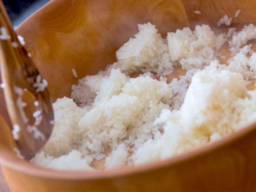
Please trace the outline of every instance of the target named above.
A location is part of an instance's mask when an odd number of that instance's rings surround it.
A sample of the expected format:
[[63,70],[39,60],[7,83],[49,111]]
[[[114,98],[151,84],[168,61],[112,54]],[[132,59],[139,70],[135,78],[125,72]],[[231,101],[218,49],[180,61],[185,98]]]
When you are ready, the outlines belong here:
[[[27,18],[20,26],[16,29],[21,28],[26,22],[38,12],[47,9],[48,6],[55,4],[55,1],[51,0],[39,10],[34,12],[29,18]],[[138,174],[146,171],[153,171],[156,169],[164,168],[166,166],[174,167],[179,164],[183,164],[186,161],[196,159],[198,157],[209,154],[210,152],[216,151],[225,147],[229,144],[234,143],[235,141],[249,135],[252,131],[256,130],[256,122],[251,123],[247,126],[239,128],[239,130],[234,133],[230,133],[220,140],[216,140],[199,146],[197,148],[191,149],[187,152],[181,153],[179,155],[167,157],[163,160],[145,162],[136,166],[126,166],[123,168],[113,168],[111,170],[105,171],[76,171],[76,170],[56,170],[51,168],[45,168],[41,166],[34,165],[29,161],[21,160],[14,155],[11,150],[0,151],[0,164],[6,166],[12,170],[23,172],[28,175],[44,177],[44,178],[54,178],[54,179],[63,179],[63,180],[95,180],[103,178],[112,178],[118,176],[127,176],[132,174]]]

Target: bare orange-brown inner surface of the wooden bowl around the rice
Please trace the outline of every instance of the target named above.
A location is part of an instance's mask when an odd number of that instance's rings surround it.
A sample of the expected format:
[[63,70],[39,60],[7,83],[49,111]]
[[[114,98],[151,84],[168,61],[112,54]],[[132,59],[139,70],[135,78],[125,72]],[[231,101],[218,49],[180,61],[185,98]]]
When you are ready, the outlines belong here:
[[[138,24],[151,22],[163,37],[167,32],[183,27],[194,29],[201,24],[209,24],[219,33],[229,27],[241,28],[254,23],[255,8],[254,0],[52,0],[24,21],[16,32],[25,38],[25,47],[47,79],[51,101],[55,102],[57,98],[70,97],[71,85],[79,78],[96,74],[116,62],[115,52],[137,33]],[[241,13],[234,18],[238,9]],[[195,14],[196,10],[201,14]],[[232,17],[232,25],[218,28],[216,23],[225,14]],[[227,48],[224,46],[221,53],[229,58]],[[73,76],[72,68],[78,78]],[[183,73],[179,68],[168,78]],[[250,86],[252,89],[254,85]],[[11,124],[2,90],[0,101],[1,126],[7,128]],[[8,135],[0,142],[0,148],[5,151],[0,154],[2,159],[11,155],[20,161],[12,152],[10,131],[1,129],[0,135]]]

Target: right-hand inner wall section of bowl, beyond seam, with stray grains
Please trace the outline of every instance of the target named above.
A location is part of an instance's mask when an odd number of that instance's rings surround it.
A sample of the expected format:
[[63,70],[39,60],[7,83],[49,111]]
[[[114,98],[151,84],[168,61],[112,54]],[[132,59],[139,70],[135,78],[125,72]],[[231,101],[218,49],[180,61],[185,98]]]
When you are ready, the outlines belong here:
[[[233,23],[256,21],[255,0],[183,0],[183,5],[192,28],[201,24],[216,26],[224,15],[232,17]],[[239,17],[234,17],[239,9]],[[196,10],[201,14],[195,14]]]

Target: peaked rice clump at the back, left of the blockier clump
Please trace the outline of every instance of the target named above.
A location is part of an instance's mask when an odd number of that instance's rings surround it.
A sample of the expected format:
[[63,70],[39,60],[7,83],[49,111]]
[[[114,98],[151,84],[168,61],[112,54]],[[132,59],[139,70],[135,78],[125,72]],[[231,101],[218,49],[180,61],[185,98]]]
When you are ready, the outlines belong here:
[[[141,71],[155,72],[157,76],[173,72],[173,63],[168,55],[166,40],[158,33],[154,25],[138,25],[139,32],[116,52],[117,63],[108,68],[120,68],[125,74]],[[138,46],[140,44],[140,46]]]

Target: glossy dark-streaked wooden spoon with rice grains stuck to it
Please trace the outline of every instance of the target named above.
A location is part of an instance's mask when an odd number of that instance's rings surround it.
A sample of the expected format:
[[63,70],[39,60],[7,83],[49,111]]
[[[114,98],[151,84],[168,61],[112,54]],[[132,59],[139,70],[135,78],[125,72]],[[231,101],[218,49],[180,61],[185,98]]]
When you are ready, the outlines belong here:
[[[44,88],[47,81],[41,78],[31,54],[21,45],[24,42],[19,41],[1,0],[0,26],[2,87],[14,125],[12,133],[17,147],[29,159],[42,148],[53,129],[52,104],[48,90]],[[26,103],[24,95],[29,98]],[[31,111],[33,108],[36,113]]]

